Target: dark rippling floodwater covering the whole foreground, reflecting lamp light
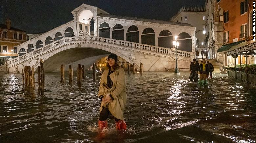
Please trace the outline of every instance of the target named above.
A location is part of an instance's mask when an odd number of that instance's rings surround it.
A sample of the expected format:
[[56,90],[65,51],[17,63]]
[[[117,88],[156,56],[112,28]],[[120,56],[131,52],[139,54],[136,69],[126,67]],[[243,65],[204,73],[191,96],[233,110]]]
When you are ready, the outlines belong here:
[[[75,73],[75,72],[74,72]],[[0,75],[0,142],[256,142],[256,90],[227,74],[214,73],[206,85],[189,72],[126,75],[127,130],[97,132],[102,71],[82,85],[45,74],[45,96],[22,84],[21,74]],[[36,75],[37,76],[37,75]],[[36,80],[37,81],[37,78]]]

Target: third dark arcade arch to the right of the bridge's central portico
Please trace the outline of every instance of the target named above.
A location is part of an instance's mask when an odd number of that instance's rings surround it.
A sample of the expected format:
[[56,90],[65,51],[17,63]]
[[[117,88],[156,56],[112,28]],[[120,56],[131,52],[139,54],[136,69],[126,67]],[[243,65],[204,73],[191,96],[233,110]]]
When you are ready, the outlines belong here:
[[139,29],[136,26],[130,26],[126,33],[126,41],[139,43]]

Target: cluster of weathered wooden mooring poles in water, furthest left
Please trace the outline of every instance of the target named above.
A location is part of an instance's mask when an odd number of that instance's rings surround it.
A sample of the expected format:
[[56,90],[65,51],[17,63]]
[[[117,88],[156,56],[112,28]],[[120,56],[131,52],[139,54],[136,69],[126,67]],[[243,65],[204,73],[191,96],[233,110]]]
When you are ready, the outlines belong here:
[[[35,72],[34,66],[32,70],[30,66],[25,66],[24,71],[22,69],[22,82],[28,87],[35,88]],[[38,92],[40,95],[44,94],[44,68],[43,61],[40,59],[40,66],[38,67]]]

